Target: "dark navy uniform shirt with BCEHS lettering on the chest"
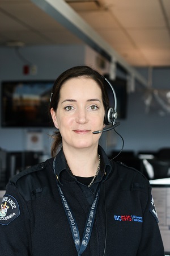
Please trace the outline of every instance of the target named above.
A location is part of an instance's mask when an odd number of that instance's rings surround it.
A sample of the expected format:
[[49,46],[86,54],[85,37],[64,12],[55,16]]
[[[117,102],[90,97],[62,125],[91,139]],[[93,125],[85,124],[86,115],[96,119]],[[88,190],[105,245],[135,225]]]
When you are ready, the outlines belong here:
[[[101,147],[99,154],[99,177],[90,188],[67,172],[62,151],[56,158],[58,181],[78,224],[80,238],[90,209],[84,191],[95,192],[95,185],[100,184],[95,222],[82,256],[164,256],[148,180],[133,168],[109,162]],[[7,184],[0,214],[0,255],[78,255],[56,174],[53,159],[49,159],[20,172]]]

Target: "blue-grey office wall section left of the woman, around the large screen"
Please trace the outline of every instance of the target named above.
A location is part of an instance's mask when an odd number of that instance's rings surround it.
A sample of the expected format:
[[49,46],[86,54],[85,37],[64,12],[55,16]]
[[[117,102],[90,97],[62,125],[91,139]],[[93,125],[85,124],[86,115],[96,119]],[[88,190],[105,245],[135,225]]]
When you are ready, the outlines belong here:
[[[19,52],[14,48],[0,47],[0,84],[5,80],[56,80],[65,69],[84,64],[84,51],[83,45],[32,46],[20,48]],[[36,75],[24,75],[25,64],[36,65]],[[0,127],[0,148],[7,151],[25,150],[27,131],[36,129]],[[41,129],[41,132],[44,154],[49,155],[49,134],[52,134],[52,129]]]

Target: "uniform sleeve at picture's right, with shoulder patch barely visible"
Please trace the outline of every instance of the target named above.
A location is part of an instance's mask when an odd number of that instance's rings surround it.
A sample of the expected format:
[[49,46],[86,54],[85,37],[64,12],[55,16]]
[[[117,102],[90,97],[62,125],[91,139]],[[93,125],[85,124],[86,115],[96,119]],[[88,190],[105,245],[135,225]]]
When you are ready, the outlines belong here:
[[151,187],[148,192],[148,201],[143,214],[142,239],[137,256],[164,256],[164,246],[158,226],[158,216],[151,195]]

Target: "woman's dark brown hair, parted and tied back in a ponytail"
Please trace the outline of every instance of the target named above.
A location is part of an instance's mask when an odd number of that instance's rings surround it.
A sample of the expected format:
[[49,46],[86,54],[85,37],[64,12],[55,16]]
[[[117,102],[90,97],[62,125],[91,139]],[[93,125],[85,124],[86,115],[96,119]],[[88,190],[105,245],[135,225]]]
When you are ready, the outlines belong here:
[[[88,67],[86,65],[82,65],[82,66],[76,66],[76,67],[67,69],[65,72],[59,75],[59,77],[56,79],[52,89],[52,96],[50,98],[49,114],[50,114],[51,108],[53,108],[55,112],[57,111],[58,102],[60,98],[60,89],[62,88],[63,83],[73,77],[87,77],[95,80],[97,84],[100,86],[100,89],[102,92],[104,109],[105,111],[108,109],[109,100],[108,100],[108,95],[105,89],[104,77],[101,76],[100,73],[98,73],[95,69]],[[52,135],[52,137],[53,137],[53,143],[51,148],[51,154],[54,157],[57,152],[57,147],[62,143],[62,137],[59,131],[56,131]]]

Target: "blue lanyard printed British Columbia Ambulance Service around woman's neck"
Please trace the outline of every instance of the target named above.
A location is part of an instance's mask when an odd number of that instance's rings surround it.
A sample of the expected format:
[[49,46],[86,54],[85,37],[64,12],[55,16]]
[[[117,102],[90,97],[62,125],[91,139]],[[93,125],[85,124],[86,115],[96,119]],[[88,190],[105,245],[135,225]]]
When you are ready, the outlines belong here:
[[[54,158],[54,162],[53,162],[54,172],[55,172],[55,162],[56,162],[56,158]],[[55,174],[56,174],[56,172],[55,172]],[[71,212],[69,204],[67,203],[65,196],[63,195],[63,192],[62,192],[61,187],[59,186],[58,182],[57,182],[57,187],[58,187],[59,195],[61,196],[63,208],[65,209],[67,220],[69,221],[69,224],[70,224],[70,229],[71,229],[71,233],[73,236],[74,244],[75,244],[76,250],[78,252],[78,256],[80,256],[80,255],[82,255],[83,251],[86,250],[88,242],[90,241],[92,228],[93,228],[94,221],[95,221],[96,208],[97,208],[97,203],[99,200],[100,189],[98,189],[95,200],[92,203],[91,208],[88,212],[86,225],[84,227],[82,243],[80,243],[80,235],[79,235],[78,225],[76,224],[73,213]]]

